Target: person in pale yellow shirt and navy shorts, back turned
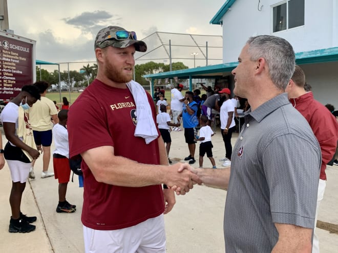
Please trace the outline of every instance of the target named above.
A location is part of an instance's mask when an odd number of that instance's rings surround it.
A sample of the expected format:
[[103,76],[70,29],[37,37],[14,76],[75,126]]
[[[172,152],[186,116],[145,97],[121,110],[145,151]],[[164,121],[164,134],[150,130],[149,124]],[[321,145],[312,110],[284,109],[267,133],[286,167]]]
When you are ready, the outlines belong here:
[[[37,101],[29,109],[29,119],[34,134],[34,141],[38,148],[43,152],[43,171],[41,172],[41,178],[54,176],[53,172],[48,171],[49,162],[51,158],[51,144],[52,144],[52,126],[59,122],[57,118],[57,109],[52,100],[46,98],[47,89],[49,83],[45,81],[35,82],[35,85],[40,92],[41,100]],[[52,121],[51,121],[52,119]],[[53,124],[51,124],[53,123]],[[34,164],[29,172],[29,178],[34,179]]]

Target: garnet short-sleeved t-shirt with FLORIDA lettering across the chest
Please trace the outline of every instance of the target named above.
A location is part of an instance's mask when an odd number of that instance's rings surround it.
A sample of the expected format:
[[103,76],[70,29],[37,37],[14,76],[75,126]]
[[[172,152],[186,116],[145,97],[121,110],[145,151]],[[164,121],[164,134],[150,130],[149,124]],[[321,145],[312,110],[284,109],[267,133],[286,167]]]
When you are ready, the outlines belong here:
[[[151,96],[147,94],[147,97],[155,121],[155,106]],[[70,157],[92,148],[113,146],[115,155],[158,165],[157,140],[146,145],[143,138],[135,137],[136,122],[136,106],[130,90],[110,87],[95,79],[68,113]],[[96,181],[85,162],[81,169],[83,225],[97,230],[121,229],[164,212],[160,185],[138,188],[108,185]]]

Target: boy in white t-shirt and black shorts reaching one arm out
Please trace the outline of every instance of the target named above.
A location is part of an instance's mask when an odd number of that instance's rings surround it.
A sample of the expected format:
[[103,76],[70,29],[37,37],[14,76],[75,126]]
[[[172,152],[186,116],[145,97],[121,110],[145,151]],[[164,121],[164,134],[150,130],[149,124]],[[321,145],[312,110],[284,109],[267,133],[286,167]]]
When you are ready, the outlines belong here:
[[170,116],[166,112],[166,106],[164,104],[160,105],[160,113],[157,114],[157,116],[156,116],[156,122],[158,124],[158,129],[160,130],[162,139],[165,143],[165,150],[166,150],[166,154],[168,156],[168,162],[171,164],[172,160],[169,158],[169,151],[170,151],[170,146],[172,144],[172,138],[170,136],[170,127],[169,126],[179,127],[181,124],[180,123],[177,123],[177,124],[171,123]]

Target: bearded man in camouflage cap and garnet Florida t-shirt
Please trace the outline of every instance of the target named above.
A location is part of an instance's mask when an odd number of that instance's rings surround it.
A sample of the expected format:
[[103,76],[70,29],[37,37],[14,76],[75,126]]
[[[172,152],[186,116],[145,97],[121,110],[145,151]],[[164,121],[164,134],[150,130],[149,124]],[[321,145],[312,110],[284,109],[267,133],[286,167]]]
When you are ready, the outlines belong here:
[[[95,39],[97,77],[68,113],[70,158],[83,158],[85,252],[165,252],[163,213],[171,211],[175,195],[162,190],[161,183],[178,186],[185,194],[193,181],[200,182],[189,165],[168,166],[162,137],[156,137],[152,98],[132,81],[135,50],[146,51],[135,32],[101,29]],[[140,94],[143,100],[137,106],[135,96]],[[138,125],[143,126],[141,134],[149,128],[156,133],[148,144],[135,136],[140,112],[149,118],[149,126]]]

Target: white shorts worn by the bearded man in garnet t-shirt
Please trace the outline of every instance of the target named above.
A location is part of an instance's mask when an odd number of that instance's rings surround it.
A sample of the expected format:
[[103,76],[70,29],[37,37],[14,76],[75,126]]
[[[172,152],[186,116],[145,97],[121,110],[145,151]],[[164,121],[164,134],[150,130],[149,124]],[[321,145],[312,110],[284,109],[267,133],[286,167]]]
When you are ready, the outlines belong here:
[[135,226],[95,230],[83,225],[86,253],[165,253],[163,214]]

